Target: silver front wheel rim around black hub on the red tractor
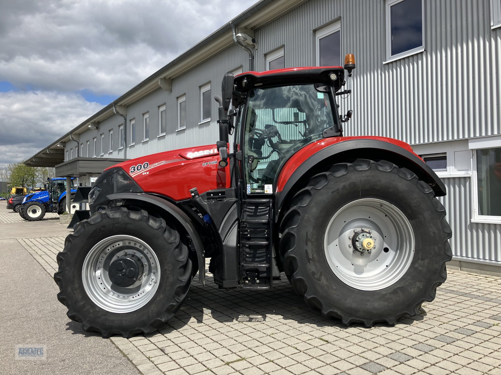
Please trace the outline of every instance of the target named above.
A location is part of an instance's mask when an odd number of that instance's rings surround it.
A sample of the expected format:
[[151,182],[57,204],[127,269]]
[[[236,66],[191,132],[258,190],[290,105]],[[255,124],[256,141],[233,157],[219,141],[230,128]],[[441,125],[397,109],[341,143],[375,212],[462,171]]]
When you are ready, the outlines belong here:
[[[144,262],[141,278],[128,287],[113,284],[108,274],[110,263],[134,254]],[[82,282],[89,298],[106,311],[127,313],[138,310],[155,295],[160,282],[158,258],[151,247],[130,235],[113,235],[94,245],[85,257]]]

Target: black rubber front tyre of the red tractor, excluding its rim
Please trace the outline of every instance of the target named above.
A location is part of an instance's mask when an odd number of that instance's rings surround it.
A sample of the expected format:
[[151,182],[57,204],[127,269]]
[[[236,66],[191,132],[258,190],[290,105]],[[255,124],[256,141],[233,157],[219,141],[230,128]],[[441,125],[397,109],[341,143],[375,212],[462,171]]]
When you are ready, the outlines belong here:
[[[119,234],[147,242],[158,257],[161,274],[158,289],[148,303],[127,313],[98,307],[82,281],[84,259],[91,248],[99,241]],[[188,247],[179,233],[162,218],[125,207],[98,211],[75,224],[75,231],[66,237],[64,250],[57,256],[59,270],[54,274],[54,280],[60,289],[58,299],[68,307],[68,317],[81,322],[86,331],[99,332],[103,337],[150,333],[176,313],[188,293],[192,271],[188,255]]]

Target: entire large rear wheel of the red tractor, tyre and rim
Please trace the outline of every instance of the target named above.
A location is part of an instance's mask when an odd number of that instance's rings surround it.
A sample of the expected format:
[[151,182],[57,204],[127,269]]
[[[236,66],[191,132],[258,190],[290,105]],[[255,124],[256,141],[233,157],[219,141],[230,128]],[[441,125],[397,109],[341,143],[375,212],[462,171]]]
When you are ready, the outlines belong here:
[[445,209],[428,184],[388,161],[357,159],[312,177],[282,221],[291,283],[346,325],[395,324],[445,281]]

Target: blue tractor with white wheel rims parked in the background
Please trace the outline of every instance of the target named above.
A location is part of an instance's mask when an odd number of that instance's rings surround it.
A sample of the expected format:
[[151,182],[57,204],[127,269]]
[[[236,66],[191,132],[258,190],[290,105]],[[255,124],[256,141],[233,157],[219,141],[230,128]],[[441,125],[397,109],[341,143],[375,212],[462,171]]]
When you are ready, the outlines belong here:
[[[77,192],[71,179],[71,197]],[[47,178],[47,191],[28,194],[23,198],[19,214],[25,220],[36,221],[45,216],[46,212],[59,214],[66,210],[66,178]]]

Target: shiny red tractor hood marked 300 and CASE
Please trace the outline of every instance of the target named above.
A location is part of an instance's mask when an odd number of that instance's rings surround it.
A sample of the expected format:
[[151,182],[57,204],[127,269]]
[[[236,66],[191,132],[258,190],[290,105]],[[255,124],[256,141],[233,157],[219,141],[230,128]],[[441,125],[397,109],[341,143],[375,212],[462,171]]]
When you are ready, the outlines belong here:
[[[230,186],[229,165],[220,167],[218,159],[219,153],[214,144],[154,153],[107,168],[95,185],[103,187],[100,181],[104,180],[108,171],[120,167],[144,192],[162,194],[173,200],[188,199],[192,187],[203,193]],[[109,193],[112,192],[106,192]]]

